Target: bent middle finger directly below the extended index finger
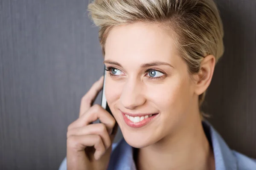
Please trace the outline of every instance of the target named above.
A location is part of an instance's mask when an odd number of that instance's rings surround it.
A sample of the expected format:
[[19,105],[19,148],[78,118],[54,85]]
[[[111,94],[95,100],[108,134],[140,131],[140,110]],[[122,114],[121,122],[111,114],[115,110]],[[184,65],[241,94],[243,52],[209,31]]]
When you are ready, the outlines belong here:
[[109,133],[113,130],[116,120],[102,106],[93,105],[85,114],[74,122],[73,128],[89,125],[90,122],[100,120],[106,127]]

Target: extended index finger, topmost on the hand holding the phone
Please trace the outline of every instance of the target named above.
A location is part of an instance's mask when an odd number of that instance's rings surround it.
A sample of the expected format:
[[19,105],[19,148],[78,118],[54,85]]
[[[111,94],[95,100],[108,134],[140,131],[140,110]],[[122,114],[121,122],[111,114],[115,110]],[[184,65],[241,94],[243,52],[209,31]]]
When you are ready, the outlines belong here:
[[82,97],[79,117],[91,107],[97,95],[102,90],[103,79],[104,76],[100,77],[98,81],[94,82],[90,90]]

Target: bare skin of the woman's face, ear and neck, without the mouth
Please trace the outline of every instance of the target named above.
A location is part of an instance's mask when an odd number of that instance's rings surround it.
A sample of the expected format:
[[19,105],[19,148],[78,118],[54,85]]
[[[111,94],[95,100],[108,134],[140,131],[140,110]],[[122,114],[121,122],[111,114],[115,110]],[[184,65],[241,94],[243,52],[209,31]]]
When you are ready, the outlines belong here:
[[[157,61],[172,66],[141,67]],[[199,73],[190,75],[165,29],[153,23],[134,23],[115,26],[109,32],[104,62],[111,68],[105,96],[126,142],[139,148],[138,170],[215,169],[198,107],[198,96],[212,79],[214,56],[205,57]],[[146,69],[157,72],[152,76]],[[144,127],[132,128],[125,124],[121,111],[158,115]]]

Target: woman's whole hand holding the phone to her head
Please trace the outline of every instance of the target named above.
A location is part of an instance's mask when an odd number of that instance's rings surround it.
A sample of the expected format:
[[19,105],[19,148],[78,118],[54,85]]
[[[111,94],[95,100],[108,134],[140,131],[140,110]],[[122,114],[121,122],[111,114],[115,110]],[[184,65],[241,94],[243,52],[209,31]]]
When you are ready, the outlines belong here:
[[[113,116],[93,101],[103,86],[103,76],[81,99],[79,119],[67,129],[67,169],[106,170],[116,135]],[[91,122],[100,120],[101,123]],[[115,127],[115,128],[114,128]],[[111,134],[113,130],[113,134]]]

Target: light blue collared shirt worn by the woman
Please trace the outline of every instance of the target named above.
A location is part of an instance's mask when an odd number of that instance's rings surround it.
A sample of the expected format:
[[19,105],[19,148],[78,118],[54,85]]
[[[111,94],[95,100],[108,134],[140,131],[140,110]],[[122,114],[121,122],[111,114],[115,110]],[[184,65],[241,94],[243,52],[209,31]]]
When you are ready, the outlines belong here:
[[[256,170],[256,159],[231,150],[208,121],[202,121],[202,125],[213,148],[215,170]],[[66,158],[62,161],[59,170],[67,170]],[[136,170],[133,147],[125,142],[124,138],[112,145],[108,170]]]

